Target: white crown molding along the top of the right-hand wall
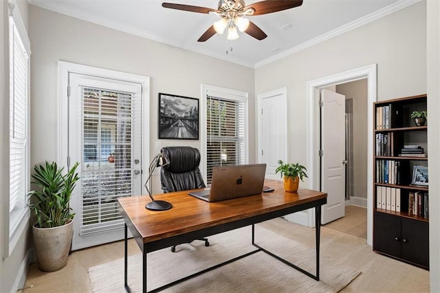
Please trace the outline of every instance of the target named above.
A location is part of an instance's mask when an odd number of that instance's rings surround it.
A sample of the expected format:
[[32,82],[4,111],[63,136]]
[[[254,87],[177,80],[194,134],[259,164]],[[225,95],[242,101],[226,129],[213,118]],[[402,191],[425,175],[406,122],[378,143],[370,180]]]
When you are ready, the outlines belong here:
[[296,45],[295,47],[292,47],[288,50],[285,50],[279,54],[276,54],[270,58],[266,58],[263,61],[259,61],[255,63],[255,69],[262,67],[264,65],[267,65],[269,63],[272,63],[274,61],[280,60],[282,58],[285,58],[287,56],[290,56],[292,54],[298,53],[300,51],[303,51],[309,47],[312,47],[314,45],[318,45],[319,43],[322,43],[324,41],[327,41],[329,39],[334,38],[335,36],[339,36],[340,34],[344,34],[346,32],[350,32],[351,30],[355,30],[356,28],[360,28],[362,25],[366,25],[368,23],[371,23],[373,21],[377,21],[377,19],[381,19],[382,17],[386,17],[389,14],[393,14],[394,12],[397,12],[401,9],[407,8],[408,6],[412,6],[415,3],[420,2],[421,0],[400,0],[397,1],[390,6],[386,6],[385,8],[382,8],[381,10],[377,10],[371,14],[366,15],[365,17],[361,17],[360,19],[356,19],[355,21],[352,21],[351,23],[347,23],[346,25],[342,25],[339,28],[336,28],[335,30],[331,30],[330,32],[327,32],[325,34],[322,34],[320,36],[317,36],[314,39],[311,39],[307,42],[301,43],[300,45]]

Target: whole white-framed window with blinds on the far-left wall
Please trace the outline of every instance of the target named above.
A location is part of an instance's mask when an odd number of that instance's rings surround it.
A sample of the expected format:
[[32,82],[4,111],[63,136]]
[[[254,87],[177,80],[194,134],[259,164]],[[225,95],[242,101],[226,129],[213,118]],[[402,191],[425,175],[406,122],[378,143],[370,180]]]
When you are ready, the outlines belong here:
[[10,252],[25,227],[26,193],[29,190],[28,85],[30,43],[18,8],[10,3]]

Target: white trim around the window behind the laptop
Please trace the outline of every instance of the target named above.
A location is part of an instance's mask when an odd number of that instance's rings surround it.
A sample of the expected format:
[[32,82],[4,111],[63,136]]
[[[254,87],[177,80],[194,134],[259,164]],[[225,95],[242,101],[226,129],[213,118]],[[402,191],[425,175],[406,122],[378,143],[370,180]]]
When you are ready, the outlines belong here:
[[[209,94],[208,94],[209,93]],[[201,164],[200,171],[203,178],[206,177],[206,138],[208,134],[206,133],[206,100],[208,96],[214,96],[217,98],[224,98],[227,100],[236,100],[239,102],[244,102],[245,105],[245,164],[249,164],[249,115],[248,115],[248,92],[239,91],[236,89],[227,89],[225,87],[216,87],[214,85],[201,85],[201,101],[200,101],[200,141],[201,141]]]

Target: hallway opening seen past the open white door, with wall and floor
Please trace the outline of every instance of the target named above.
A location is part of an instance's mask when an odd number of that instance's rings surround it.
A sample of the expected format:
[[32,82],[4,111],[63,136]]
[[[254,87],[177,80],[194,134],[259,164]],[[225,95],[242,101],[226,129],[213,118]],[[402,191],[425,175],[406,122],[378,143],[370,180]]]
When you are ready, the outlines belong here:
[[[368,90],[366,78],[328,88],[344,96],[344,217],[325,222],[325,228],[366,239],[367,228],[367,123]],[[328,124],[327,121],[322,124]],[[325,155],[324,155],[325,157]],[[333,154],[331,154],[333,157]]]

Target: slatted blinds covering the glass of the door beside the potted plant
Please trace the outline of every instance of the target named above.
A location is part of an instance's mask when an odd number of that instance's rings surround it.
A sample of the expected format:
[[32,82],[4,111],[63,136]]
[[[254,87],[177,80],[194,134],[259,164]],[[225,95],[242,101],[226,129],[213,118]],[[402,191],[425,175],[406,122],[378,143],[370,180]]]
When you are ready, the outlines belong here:
[[132,194],[132,129],[140,124],[133,93],[82,88],[83,162],[80,235],[123,228],[118,197]]

